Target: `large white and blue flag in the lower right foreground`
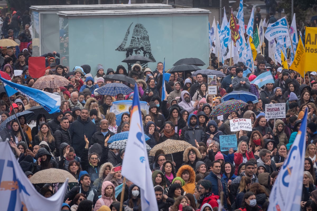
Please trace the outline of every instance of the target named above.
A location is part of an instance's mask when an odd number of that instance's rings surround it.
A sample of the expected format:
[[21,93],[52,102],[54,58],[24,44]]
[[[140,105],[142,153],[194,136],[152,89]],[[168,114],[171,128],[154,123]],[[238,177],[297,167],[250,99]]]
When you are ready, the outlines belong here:
[[307,112],[308,109],[305,111],[301,127],[271,190],[268,211],[301,210]]

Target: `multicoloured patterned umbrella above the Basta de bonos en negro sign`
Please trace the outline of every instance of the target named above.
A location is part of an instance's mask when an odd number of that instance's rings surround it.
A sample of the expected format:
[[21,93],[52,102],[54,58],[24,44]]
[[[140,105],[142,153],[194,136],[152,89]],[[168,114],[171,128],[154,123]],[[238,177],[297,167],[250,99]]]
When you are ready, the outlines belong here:
[[220,116],[223,114],[228,114],[232,111],[242,109],[247,105],[248,103],[243,102],[242,100],[228,100],[217,105],[211,112],[210,116]]

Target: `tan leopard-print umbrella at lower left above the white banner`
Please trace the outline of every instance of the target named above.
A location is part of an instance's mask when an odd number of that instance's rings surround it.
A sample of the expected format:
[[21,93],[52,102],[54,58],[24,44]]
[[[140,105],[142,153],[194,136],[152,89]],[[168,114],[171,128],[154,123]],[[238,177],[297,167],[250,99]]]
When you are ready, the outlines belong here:
[[[32,178],[33,177],[33,178]],[[78,183],[77,179],[68,171],[62,169],[45,169],[36,172],[30,178],[32,184],[38,183],[64,183],[68,178],[68,183]]]

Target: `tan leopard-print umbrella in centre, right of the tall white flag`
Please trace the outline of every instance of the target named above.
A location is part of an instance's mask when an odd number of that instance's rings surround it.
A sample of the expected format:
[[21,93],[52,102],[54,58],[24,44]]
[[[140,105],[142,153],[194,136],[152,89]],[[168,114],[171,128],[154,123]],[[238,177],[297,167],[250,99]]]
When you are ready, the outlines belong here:
[[150,151],[150,156],[155,156],[156,151],[159,149],[162,149],[166,155],[175,152],[182,152],[190,146],[192,145],[186,141],[167,139],[166,141],[155,145]]

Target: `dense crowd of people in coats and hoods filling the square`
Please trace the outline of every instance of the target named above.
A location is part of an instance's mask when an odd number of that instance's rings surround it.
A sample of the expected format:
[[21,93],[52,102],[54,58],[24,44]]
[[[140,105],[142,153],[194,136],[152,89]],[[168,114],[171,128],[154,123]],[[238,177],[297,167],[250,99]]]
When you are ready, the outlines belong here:
[[[16,31],[10,30],[8,33],[12,33],[14,39]],[[29,47],[31,50],[32,44],[28,44]],[[5,59],[1,69],[10,75],[12,82],[32,87],[37,78],[29,75],[27,58],[31,51],[28,49],[16,55],[16,47],[3,47]],[[72,70],[60,65],[57,52],[42,56],[46,58],[45,75],[59,75],[69,80],[67,86],[43,89],[61,97],[60,111],[51,119],[43,114],[36,116],[36,120],[20,115],[6,123],[0,130],[0,138],[9,141],[28,178],[42,170],[58,168],[78,180],[68,184],[61,210],[119,211],[122,206],[122,210],[141,211],[140,188],[129,178],[125,180],[124,192],[116,194],[116,188],[124,182],[120,167],[125,149],[108,147],[110,137],[129,131],[131,120],[130,108],[117,122],[116,114],[110,111],[112,103],[134,97],[148,103],[149,109],[141,109],[141,115],[144,132],[149,137],[146,143],[151,148],[168,139],[191,144],[172,155],[159,149],[155,156],[149,156],[153,191],[160,211],[211,211],[218,210],[220,203],[226,210],[268,210],[272,186],[306,109],[309,111],[301,207],[305,211],[317,210],[316,72],[307,72],[302,78],[297,72],[275,65],[271,58],[258,54],[254,61],[255,72],[244,77],[247,68],[242,62],[233,64],[229,59],[223,64],[213,55],[208,69],[225,76],[217,78],[217,95],[211,95],[207,75],[167,71],[169,78],[163,78],[162,62],[154,71],[136,62],[129,72],[123,65],[106,70],[98,64],[93,71],[97,73],[93,75],[89,65]],[[15,74],[15,69],[23,72]],[[266,71],[272,73],[275,83],[263,87],[250,83]],[[105,79],[114,74],[135,79],[138,93],[98,94],[100,87],[110,83],[125,84],[133,91],[135,84]],[[162,101],[163,83],[166,92]],[[213,109],[221,106],[221,98],[232,91],[251,92],[258,102],[248,101],[245,108],[212,116]],[[286,117],[266,119],[264,109],[269,103],[285,103]],[[20,93],[7,96],[2,92],[1,122],[38,105],[36,99]],[[250,119],[252,131],[232,132],[230,120],[239,118]],[[236,135],[236,151],[220,150],[222,135]],[[51,197],[60,185],[42,183],[34,187],[44,197]]]

